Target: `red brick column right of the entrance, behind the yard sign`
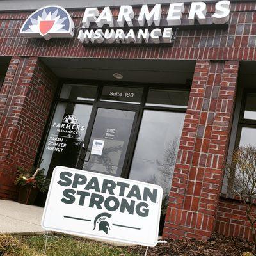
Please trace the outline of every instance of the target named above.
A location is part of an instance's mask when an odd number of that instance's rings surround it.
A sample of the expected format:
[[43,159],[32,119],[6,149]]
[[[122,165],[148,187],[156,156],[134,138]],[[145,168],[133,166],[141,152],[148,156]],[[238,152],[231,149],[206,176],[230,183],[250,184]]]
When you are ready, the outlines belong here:
[[208,239],[214,228],[238,61],[196,61],[163,236]]

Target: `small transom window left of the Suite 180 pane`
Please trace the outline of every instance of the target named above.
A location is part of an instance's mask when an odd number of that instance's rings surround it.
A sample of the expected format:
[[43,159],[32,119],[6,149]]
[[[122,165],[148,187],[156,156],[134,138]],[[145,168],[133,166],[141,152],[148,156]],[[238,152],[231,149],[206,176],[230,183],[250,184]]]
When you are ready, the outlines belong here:
[[97,86],[83,84],[63,84],[60,98],[70,100],[90,100],[96,97]]

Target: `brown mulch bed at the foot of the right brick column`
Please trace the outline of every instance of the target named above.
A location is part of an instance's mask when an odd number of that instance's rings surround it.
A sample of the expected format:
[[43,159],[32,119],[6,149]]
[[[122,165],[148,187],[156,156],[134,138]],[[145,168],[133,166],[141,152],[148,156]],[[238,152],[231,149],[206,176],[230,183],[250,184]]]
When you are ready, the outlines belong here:
[[[148,248],[147,256],[241,256],[252,251],[252,244],[237,237],[224,237],[213,234],[208,241],[165,239],[168,243],[159,243]],[[146,247],[135,246],[131,250],[145,255]]]

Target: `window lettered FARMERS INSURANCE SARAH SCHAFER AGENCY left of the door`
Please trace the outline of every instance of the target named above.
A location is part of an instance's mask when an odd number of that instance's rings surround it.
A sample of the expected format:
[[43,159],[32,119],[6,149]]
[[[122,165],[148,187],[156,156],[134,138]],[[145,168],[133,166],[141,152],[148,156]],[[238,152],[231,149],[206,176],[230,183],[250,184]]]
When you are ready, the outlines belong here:
[[49,177],[58,165],[76,167],[91,111],[90,105],[58,103],[40,165]]

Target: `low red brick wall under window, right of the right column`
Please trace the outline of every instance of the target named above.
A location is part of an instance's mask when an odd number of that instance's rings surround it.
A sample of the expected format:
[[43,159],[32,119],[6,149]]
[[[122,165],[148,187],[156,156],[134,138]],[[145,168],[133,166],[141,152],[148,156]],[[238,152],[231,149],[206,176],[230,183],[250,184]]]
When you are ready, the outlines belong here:
[[[256,214],[256,207],[252,212]],[[252,241],[245,206],[239,200],[220,198],[214,230],[225,236],[239,236]]]

